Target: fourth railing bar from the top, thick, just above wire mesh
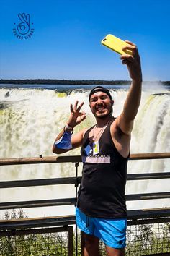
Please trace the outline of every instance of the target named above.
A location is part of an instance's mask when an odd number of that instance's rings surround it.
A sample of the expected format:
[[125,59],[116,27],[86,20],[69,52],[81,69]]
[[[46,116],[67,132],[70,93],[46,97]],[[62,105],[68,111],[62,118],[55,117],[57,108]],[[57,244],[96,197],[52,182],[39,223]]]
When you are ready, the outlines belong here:
[[[170,208],[128,210],[128,223],[138,225],[139,221],[145,223],[160,223],[169,221]],[[133,221],[133,223],[132,223]],[[51,216],[41,218],[22,218],[14,220],[0,220],[1,230],[27,229],[45,226],[66,226],[76,223],[76,218],[72,216]]]

